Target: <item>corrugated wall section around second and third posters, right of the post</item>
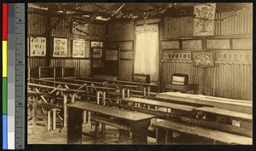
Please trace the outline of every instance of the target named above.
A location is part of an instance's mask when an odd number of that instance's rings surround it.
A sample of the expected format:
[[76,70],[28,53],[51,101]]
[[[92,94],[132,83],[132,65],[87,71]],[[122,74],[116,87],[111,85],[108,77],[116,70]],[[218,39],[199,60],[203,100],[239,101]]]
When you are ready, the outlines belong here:
[[[58,21],[59,20],[59,21]],[[53,26],[57,23],[52,32],[50,32],[50,37],[52,38],[67,38],[68,40],[68,57],[67,58],[56,58],[51,57],[49,61],[49,66],[68,66],[76,68],[76,76],[90,76],[90,41],[104,41],[106,35],[105,25],[88,25],[88,35],[78,35],[71,32],[70,20],[63,20],[57,17],[50,18],[50,25]],[[85,57],[84,58],[73,58],[72,57],[72,40],[82,39],[85,41]],[[51,42],[52,43],[52,42]],[[51,44],[52,46],[52,44]],[[50,49],[51,55],[53,48]]]

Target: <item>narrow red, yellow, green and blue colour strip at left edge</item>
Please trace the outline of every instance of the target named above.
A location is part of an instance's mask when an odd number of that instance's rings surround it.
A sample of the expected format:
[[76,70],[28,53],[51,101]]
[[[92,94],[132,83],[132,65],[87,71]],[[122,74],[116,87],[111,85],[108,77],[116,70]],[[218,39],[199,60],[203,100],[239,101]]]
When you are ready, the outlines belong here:
[[3,3],[3,41],[2,41],[2,57],[3,57],[3,83],[2,83],[2,111],[3,111],[3,149],[8,149],[8,117],[7,117],[7,32],[8,32],[8,3]]

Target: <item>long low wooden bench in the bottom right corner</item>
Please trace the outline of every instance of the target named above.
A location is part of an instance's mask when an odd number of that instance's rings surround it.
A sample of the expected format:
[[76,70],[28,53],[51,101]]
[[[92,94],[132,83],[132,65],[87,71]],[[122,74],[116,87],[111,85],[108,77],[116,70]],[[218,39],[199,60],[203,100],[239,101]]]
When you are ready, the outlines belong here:
[[160,121],[154,123],[152,126],[156,128],[156,143],[167,144],[169,140],[172,140],[173,132],[180,132],[193,136],[206,137],[218,142],[224,142],[228,144],[253,144],[253,139],[246,136],[238,136],[223,131],[214,131],[206,128],[202,128],[195,125],[187,125],[184,123],[178,123],[174,121]]

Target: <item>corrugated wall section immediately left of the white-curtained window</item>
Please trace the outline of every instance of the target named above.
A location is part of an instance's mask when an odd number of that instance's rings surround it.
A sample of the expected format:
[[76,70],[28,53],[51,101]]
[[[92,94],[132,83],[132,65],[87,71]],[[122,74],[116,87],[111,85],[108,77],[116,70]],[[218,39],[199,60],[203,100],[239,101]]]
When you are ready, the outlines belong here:
[[108,48],[120,48],[119,79],[132,80],[134,22],[110,23],[107,26]]

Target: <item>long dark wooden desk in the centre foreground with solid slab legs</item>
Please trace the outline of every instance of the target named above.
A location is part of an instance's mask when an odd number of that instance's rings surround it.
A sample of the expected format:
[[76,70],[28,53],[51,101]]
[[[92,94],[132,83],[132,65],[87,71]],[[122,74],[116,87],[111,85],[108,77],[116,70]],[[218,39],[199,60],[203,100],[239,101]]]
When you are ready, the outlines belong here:
[[[150,125],[150,119],[153,115],[145,113],[136,113],[119,108],[105,107],[90,102],[75,102],[68,104],[67,121],[67,143],[82,143],[82,116],[83,111],[87,110],[93,113],[101,113],[119,120],[119,124],[126,124],[131,129],[131,142],[133,144],[146,144],[147,131]],[[115,121],[118,122],[118,121]]]

